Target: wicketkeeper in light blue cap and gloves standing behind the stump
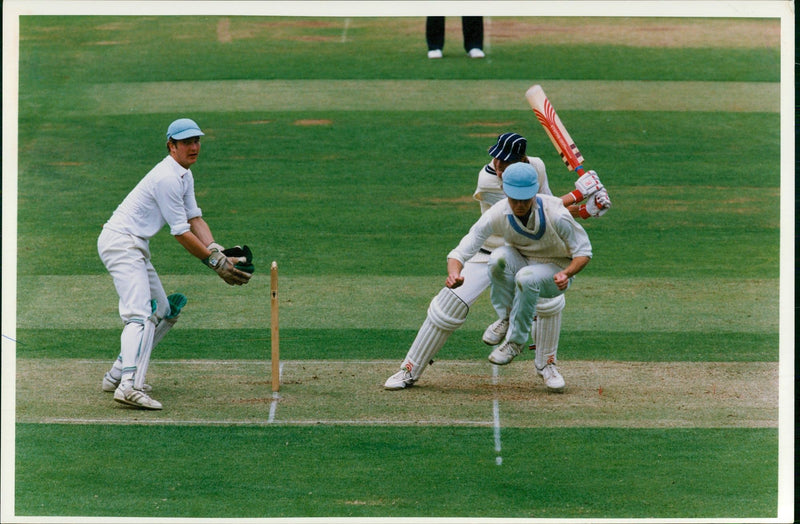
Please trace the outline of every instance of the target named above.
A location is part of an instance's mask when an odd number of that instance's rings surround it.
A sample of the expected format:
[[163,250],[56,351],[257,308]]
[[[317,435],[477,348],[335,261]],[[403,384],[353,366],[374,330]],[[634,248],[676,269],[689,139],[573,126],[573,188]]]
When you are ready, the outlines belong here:
[[226,250],[214,241],[197,205],[189,169],[200,154],[204,133],[191,119],[167,129],[167,156],[142,178],[103,225],[97,251],[114,280],[124,327],[120,352],[103,376],[103,391],[140,409],[162,409],[145,384],[150,354],[175,325],[186,296],[167,296],[150,260],[150,239],[165,225],[193,256],[232,286],[247,284],[253,274],[247,246]]

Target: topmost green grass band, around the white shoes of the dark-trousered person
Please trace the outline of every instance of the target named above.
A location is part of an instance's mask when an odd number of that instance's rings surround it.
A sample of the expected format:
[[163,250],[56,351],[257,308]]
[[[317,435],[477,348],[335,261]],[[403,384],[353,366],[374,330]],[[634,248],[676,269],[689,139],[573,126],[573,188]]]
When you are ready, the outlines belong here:
[[[493,23],[502,30],[514,22],[500,18]],[[540,28],[562,24],[558,19],[537,22]],[[23,17],[20,79],[23,85],[44,80],[51,88],[74,82],[243,78],[779,80],[776,47],[582,45],[570,43],[566,35],[560,45],[545,45],[534,29],[498,43],[500,51],[488,60],[436,62],[421,60],[422,17],[354,19],[346,42],[341,42],[343,18],[262,19],[260,27],[254,27],[257,19],[248,23],[233,18],[232,32],[249,29],[252,37],[239,33],[232,42],[219,40],[218,23],[219,18],[197,16]],[[591,22],[576,29],[592,30]],[[192,35],[191,45],[187,34]],[[450,44],[451,52],[458,52],[457,45]],[[164,59],[166,49],[170,60]],[[116,74],[108,75],[109,68]]]

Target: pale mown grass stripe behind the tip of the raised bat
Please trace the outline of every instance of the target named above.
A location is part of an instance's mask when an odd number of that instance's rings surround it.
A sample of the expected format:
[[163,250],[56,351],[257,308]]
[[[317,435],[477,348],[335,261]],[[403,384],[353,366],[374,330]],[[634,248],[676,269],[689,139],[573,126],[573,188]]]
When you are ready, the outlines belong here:
[[[561,110],[777,113],[780,84],[599,80],[214,80],[94,84],[72,113],[530,110],[540,83]],[[165,97],[164,93],[180,93]]]

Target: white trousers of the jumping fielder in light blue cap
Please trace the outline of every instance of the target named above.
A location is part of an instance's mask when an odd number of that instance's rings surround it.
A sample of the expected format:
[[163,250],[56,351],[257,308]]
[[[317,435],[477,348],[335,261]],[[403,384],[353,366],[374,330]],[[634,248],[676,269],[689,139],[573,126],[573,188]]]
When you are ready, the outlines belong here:
[[[502,246],[489,257],[492,306],[498,318],[508,318],[506,339],[525,344],[531,332],[539,298],[563,295],[553,276],[563,268],[557,264],[531,262],[517,249]],[[569,286],[572,279],[569,279]]]

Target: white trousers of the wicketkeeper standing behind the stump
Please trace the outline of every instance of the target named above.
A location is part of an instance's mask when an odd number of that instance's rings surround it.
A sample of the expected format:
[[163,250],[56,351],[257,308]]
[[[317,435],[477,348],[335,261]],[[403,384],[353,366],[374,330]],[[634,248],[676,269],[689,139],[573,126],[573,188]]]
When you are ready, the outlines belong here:
[[119,316],[125,324],[120,337],[122,372],[133,373],[144,322],[152,314],[151,300],[156,301],[156,315],[163,318],[169,312],[167,294],[150,262],[146,239],[103,228],[97,239],[97,252],[119,295]]

